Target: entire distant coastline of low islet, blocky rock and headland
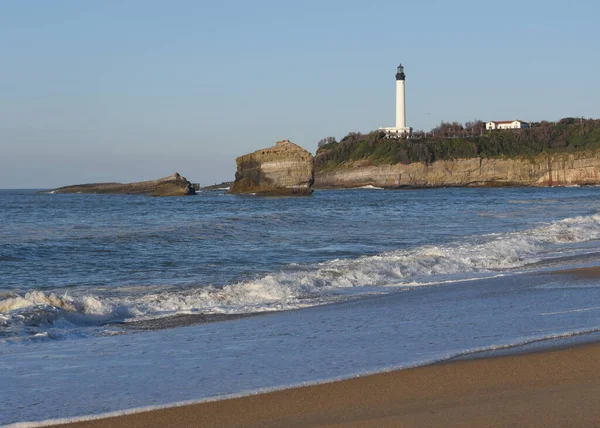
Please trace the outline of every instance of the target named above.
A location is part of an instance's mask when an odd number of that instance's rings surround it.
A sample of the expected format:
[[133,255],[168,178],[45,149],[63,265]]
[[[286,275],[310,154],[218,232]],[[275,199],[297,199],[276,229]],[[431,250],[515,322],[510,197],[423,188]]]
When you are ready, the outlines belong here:
[[[50,193],[184,196],[197,190],[310,195],[312,188],[541,187],[600,185],[600,119],[564,118],[486,131],[481,121],[444,123],[403,138],[381,130],[319,142],[313,157],[282,140],[237,158],[235,181],[200,188],[175,173],[136,183],[79,184]],[[232,171],[232,175],[234,171]]]

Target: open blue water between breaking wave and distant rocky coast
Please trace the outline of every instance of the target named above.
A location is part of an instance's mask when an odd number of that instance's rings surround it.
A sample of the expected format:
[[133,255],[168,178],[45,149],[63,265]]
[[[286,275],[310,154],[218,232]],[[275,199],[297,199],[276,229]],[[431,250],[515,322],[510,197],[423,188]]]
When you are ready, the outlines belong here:
[[222,286],[600,209],[600,190],[321,191],[257,199],[0,192],[1,291]]

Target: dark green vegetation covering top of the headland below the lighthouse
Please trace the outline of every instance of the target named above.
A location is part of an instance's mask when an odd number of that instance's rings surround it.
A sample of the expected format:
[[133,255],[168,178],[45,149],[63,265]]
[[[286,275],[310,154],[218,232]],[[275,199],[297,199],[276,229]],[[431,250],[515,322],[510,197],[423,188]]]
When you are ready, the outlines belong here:
[[350,133],[339,143],[321,140],[315,157],[317,171],[352,161],[372,165],[432,163],[464,158],[533,158],[542,153],[571,153],[600,149],[600,120],[565,118],[541,122],[529,129],[486,132],[482,122],[442,123],[410,139],[390,139],[380,131]]

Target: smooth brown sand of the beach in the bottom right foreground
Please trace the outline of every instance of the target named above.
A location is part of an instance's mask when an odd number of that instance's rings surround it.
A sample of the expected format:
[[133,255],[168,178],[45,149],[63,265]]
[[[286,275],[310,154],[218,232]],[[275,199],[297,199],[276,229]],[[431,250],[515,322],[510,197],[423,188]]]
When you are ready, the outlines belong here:
[[600,344],[454,361],[69,426],[595,427]]

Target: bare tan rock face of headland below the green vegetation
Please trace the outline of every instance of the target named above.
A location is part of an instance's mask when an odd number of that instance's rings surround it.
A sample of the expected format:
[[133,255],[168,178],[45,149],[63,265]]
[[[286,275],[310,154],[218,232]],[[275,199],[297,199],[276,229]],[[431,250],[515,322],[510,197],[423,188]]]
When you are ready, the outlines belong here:
[[600,154],[540,155],[534,159],[456,159],[432,164],[370,165],[356,161],[317,171],[315,187],[570,186],[600,184]]

